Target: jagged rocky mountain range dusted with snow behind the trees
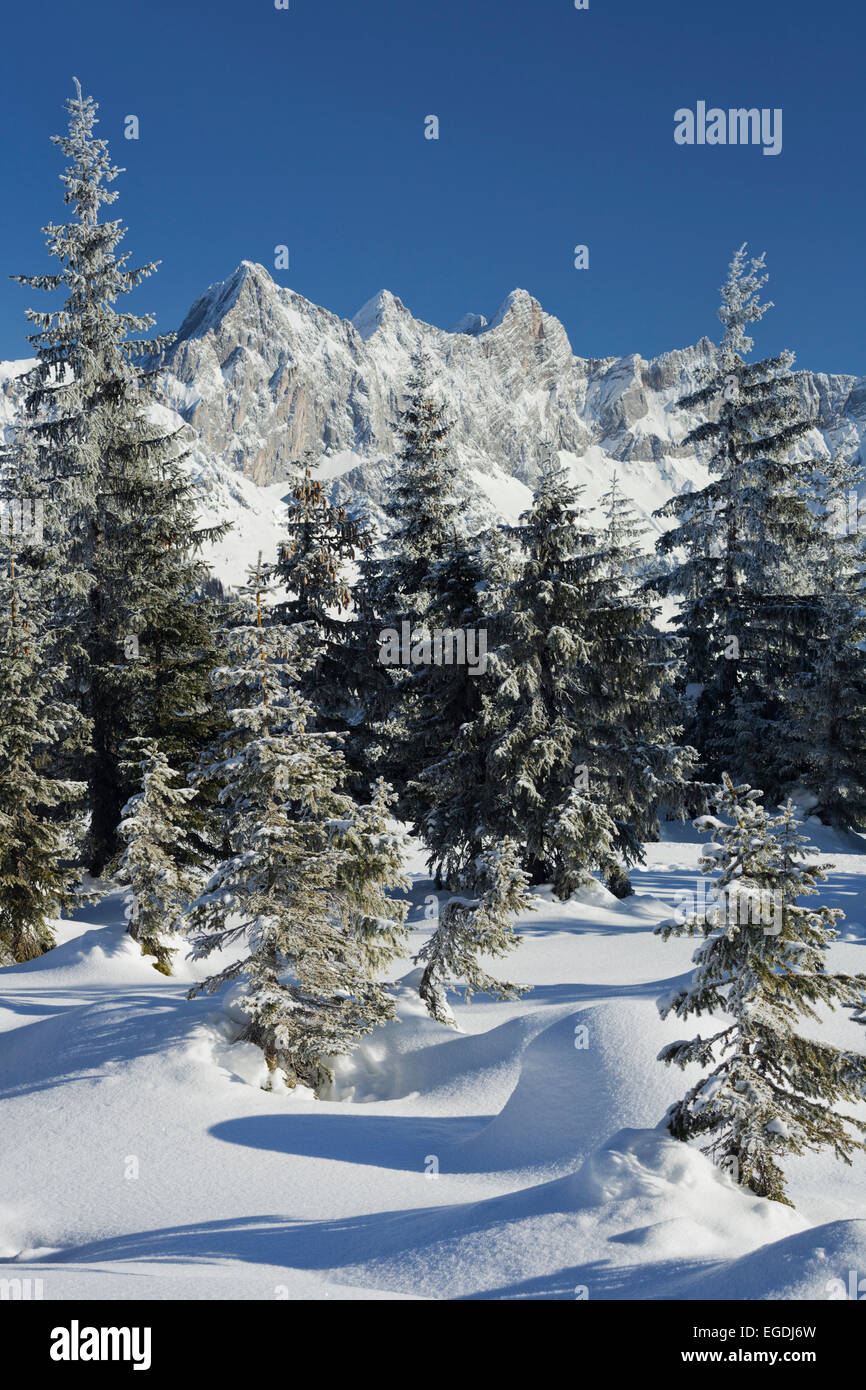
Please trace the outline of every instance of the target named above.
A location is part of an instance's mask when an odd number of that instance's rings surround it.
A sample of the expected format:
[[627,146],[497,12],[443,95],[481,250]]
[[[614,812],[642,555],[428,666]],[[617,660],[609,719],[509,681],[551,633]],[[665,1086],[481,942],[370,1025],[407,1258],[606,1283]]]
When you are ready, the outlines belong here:
[[[272,550],[291,464],[307,450],[335,495],[381,516],[399,439],[395,421],[413,350],[432,359],[453,420],[470,520],[514,518],[550,449],[587,486],[614,468],[648,518],[703,464],[684,450],[677,399],[712,354],[709,339],[645,360],[575,356],[563,325],[523,289],[488,321],[467,313],[450,331],[416,320],[382,291],[349,322],[242,261],[193,303],[164,359],[164,399],[195,431],[192,459],[207,512],[234,518],[217,563],[238,577]],[[0,425],[13,417],[22,363],[0,367]],[[801,373],[823,449],[866,432],[866,377]],[[824,439],[820,438],[824,435]]]

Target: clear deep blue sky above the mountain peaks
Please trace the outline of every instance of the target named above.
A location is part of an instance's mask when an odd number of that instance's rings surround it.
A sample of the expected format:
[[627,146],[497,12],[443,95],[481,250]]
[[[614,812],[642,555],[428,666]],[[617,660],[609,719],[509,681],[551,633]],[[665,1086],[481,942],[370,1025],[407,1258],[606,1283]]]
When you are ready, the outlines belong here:
[[[346,317],[388,288],[441,327],[523,286],[577,353],[651,356],[717,336],[716,289],[748,240],[777,303],[759,349],[866,373],[865,50],[862,0],[18,0],[0,357],[29,353],[33,293],[6,274],[49,268],[49,136],[76,74],[126,168],[126,245],[163,261],[133,306],[161,331],[249,259]],[[781,107],[783,153],[676,146],[674,110],[698,100]]]

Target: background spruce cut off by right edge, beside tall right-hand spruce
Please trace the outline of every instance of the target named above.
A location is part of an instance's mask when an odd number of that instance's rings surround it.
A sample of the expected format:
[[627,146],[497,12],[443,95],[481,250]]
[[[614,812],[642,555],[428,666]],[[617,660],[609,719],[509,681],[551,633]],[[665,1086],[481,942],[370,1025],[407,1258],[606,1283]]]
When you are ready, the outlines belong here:
[[802,546],[809,575],[799,671],[783,692],[792,785],[830,826],[866,826],[866,557],[856,488],[862,466],[830,459],[819,482],[817,542]]

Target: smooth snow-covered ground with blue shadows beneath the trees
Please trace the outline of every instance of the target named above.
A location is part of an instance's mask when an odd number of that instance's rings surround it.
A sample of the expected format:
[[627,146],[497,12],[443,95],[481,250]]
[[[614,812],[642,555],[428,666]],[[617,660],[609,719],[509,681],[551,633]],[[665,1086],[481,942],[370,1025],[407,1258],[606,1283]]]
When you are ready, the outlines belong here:
[[[866,845],[809,830],[848,913],[831,966],[866,970]],[[120,895],[61,923],[0,972],[0,1277],[75,1300],[840,1297],[866,1279],[866,1158],[792,1162],[791,1211],[656,1127],[689,1080],[656,1054],[698,1029],[659,1020],[694,942],[653,926],[698,853],[667,826],[637,897],[542,892],[502,972],[532,991],[457,1002],[461,1033],[405,962],[400,1022],[327,1101],[263,1091],[220,998],[185,998],[202,967],[154,972]],[[866,1045],[847,1015],[826,1027]]]

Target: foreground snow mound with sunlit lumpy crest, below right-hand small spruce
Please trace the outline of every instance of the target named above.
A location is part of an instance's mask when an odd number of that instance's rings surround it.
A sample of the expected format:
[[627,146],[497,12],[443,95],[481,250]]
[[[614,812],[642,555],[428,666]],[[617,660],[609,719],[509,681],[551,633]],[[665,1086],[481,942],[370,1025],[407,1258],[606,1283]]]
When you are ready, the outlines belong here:
[[[391,1212],[346,1241],[371,1257],[331,1277],[436,1298],[702,1298],[744,1247],[796,1240],[803,1219],[738,1188],[659,1130],[620,1130],[578,1173],[481,1202]],[[856,1225],[856,1223],[841,1223]],[[375,1247],[378,1245],[378,1252]]]

